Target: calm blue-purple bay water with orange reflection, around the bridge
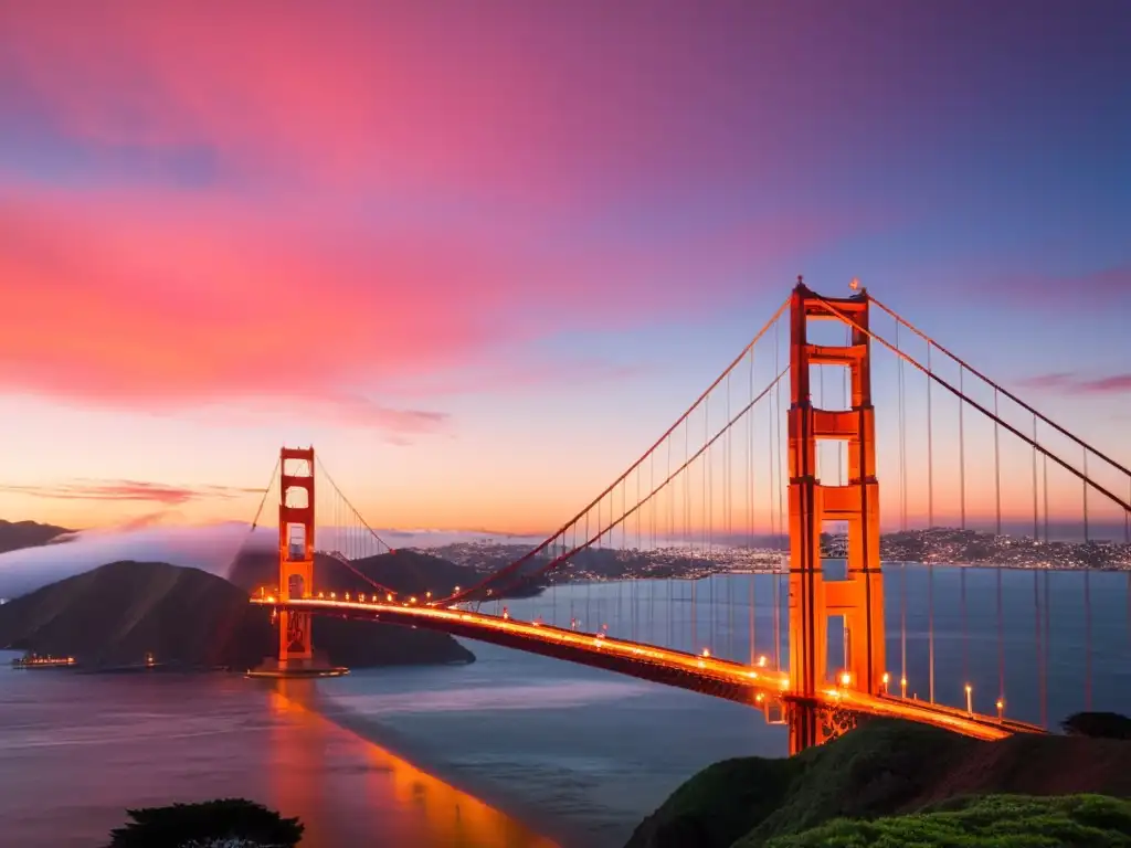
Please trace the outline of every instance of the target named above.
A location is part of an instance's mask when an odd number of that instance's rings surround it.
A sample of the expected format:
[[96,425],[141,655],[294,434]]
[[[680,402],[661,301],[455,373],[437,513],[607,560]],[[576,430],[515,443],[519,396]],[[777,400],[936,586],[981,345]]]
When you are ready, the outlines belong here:
[[[1095,709],[1131,708],[1125,574],[1094,573],[1086,585],[1079,573],[1003,572],[999,634],[996,572],[933,571],[929,578],[920,566],[888,569],[886,581],[888,666],[898,674],[904,661],[906,598],[915,694],[925,699],[929,691],[930,595],[939,700],[957,702],[970,680],[981,699],[975,706],[992,710],[1000,644],[1011,715],[1038,720],[1043,703],[1055,721],[1082,709],[1086,698]],[[749,658],[751,589],[753,650],[772,657],[770,576],[699,581],[694,605],[688,583],[658,581],[562,588],[510,609],[563,624],[588,616],[614,635],[634,632]],[[301,816],[303,845],[313,848],[371,840],[613,848],[698,769],[786,750],[784,727],[740,704],[470,647],[478,661],[469,666],[277,686],[226,676],[0,668],[6,843],[96,846],[127,806],[239,795]]]

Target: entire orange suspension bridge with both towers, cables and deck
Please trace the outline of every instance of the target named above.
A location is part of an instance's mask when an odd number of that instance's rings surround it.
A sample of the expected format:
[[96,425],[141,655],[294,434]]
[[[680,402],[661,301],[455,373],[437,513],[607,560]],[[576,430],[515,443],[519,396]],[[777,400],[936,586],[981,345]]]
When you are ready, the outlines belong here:
[[[873,387],[881,387],[879,413]],[[317,492],[316,476],[325,479]],[[391,548],[312,448],[283,449],[268,491],[275,481],[278,585],[252,603],[277,616],[279,669],[316,664],[314,616],[426,628],[748,703],[788,726],[792,752],[861,716],[986,739],[1043,732],[1050,622],[1054,608],[1067,614],[1048,576],[1063,569],[1082,574],[1081,707],[1091,709],[1091,574],[1131,568],[1126,467],[855,284],[852,296],[828,297],[800,278],[753,340],[623,474],[541,544],[466,586],[441,585],[439,576],[432,585],[424,574],[430,588],[406,596],[357,568]],[[881,535],[881,510],[897,517],[887,522],[898,527],[893,534]],[[974,569],[957,569],[955,646],[936,639],[935,572],[970,565],[972,551],[995,579],[974,590]],[[317,583],[317,553],[366,590]],[[908,608],[908,562],[926,572],[925,633],[908,628],[909,615],[923,618]],[[1031,571],[1031,597],[1026,572],[1010,571],[1007,591],[1010,568]],[[746,597],[736,597],[735,581],[716,592],[711,576],[722,571],[750,574]],[[628,572],[654,579],[618,583],[615,612],[606,592],[594,613],[595,580]],[[886,606],[893,573],[898,634]],[[1104,647],[1117,654],[1105,665],[1112,674],[1131,667],[1131,571],[1122,586],[1124,632],[1112,635],[1104,623]],[[986,606],[991,592],[995,644],[969,635],[970,608]],[[510,606],[532,595],[543,612],[520,620]],[[1104,595],[1110,617],[1111,591]],[[1009,615],[1031,622],[1025,666],[1035,682],[1007,674]],[[961,678],[936,680],[939,655],[956,650]],[[908,680],[913,672],[918,680]],[[974,677],[983,701],[984,689],[993,692],[992,711],[975,709]],[[1039,700],[1039,722],[1011,718],[1008,687]]]

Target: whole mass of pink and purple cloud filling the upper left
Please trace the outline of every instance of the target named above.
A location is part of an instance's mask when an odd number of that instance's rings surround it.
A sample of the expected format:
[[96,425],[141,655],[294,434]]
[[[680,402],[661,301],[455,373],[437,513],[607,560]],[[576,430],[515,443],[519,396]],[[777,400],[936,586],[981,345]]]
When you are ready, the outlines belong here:
[[[740,126],[814,111],[716,85],[748,55],[727,15],[688,29],[692,12],[625,11],[627,43],[599,6],[510,12],[483,28],[461,3],[5,5],[0,109],[93,176],[9,165],[0,183],[0,390],[155,410],[300,399],[404,439],[443,412],[368,398],[468,367],[511,387],[596,372],[508,363],[567,328],[784,292],[757,272],[875,223],[684,210],[658,248],[641,222],[681,189],[782,172],[769,154],[788,139]],[[215,173],[191,189],[143,167],[197,153]],[[106,165],[122,156],[124,175]]]

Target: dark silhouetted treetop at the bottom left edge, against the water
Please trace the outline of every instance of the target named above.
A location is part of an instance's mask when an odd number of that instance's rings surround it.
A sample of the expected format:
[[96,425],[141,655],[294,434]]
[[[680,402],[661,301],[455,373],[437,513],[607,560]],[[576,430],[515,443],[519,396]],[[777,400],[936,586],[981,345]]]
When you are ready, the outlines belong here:
[[244,798],[126,812],[133,821],[111,831],[110,848],[292,848],[302,839],[304,829],[297,819],[284,819],[275,811]]

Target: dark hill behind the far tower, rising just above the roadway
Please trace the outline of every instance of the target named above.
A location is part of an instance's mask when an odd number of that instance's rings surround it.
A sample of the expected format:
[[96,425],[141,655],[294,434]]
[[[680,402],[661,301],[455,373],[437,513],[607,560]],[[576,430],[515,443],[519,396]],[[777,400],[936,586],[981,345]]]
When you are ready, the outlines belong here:
[[[278,583],[275,552],[244,552],[235,561],[228,580],[248,592]],[[357,571],[399,595],[437,596],[451,594],[457,586],[470,586],[482,576],[469,565],[457,565],[418,551],[366,556],[351,563]],[[318,590],[371,592],[373,587],[333,556],[314,554],[314,581]]]

